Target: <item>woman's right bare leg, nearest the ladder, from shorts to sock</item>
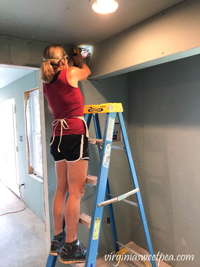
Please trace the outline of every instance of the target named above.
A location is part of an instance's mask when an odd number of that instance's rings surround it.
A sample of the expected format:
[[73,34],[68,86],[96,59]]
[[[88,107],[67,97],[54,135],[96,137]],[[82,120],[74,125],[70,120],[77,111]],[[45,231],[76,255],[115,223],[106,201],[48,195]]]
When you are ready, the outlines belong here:
[[65,207],[66,243],[76,240],[80,217],[80,201],[85,191],[88,160],[67,162],[69,196]]

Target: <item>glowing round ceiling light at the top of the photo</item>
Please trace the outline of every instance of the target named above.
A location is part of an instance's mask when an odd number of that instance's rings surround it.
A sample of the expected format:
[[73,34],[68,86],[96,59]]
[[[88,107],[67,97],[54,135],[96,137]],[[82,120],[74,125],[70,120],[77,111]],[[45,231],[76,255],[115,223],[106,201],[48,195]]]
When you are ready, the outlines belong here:
[[118,3],[113,0],[97,0],[92,5],[92,9],[101,14],[112,13],[118,8]]

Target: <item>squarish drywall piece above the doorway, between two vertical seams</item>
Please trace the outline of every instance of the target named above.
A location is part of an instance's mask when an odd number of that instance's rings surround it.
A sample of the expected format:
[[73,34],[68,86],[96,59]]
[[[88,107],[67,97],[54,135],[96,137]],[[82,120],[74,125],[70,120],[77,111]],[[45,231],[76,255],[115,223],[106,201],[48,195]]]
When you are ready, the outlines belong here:
[[30,66],[29,40],[9,36],[10,64]]

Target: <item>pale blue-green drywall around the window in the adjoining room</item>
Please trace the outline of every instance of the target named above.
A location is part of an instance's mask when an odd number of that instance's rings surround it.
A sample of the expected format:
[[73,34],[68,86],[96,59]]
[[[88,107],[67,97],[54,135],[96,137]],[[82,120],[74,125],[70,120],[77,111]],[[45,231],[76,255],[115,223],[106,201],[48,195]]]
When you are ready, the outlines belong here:
[[[0,101],[15,97],[19,180],[20,184],[25,183],[25,188],[21,187],[21,193],[27,207],[44,221],[43,183],[28,175],[24,114],[24,91],[37,86],[38,74],[33,71],[1,88]],[[20,135],[23,136],[23,142],[20,142]]]

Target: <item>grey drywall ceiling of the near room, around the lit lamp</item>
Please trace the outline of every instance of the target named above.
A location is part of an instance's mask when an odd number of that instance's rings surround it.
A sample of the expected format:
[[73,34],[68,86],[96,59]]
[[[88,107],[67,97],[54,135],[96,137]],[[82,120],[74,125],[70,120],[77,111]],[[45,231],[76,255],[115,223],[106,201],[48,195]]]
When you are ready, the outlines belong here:
[[0,0],[0,34],[87,48],[181,2],[116,1],[116,12],[98,14],[95,0]]

